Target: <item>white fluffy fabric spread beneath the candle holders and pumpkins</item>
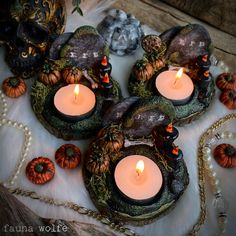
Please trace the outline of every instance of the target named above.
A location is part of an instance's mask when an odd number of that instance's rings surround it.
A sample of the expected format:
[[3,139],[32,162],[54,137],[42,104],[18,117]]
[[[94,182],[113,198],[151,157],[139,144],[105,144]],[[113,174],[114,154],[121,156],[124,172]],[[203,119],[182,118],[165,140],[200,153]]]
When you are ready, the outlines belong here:
[[[90,24],[96,26],[96,24],[102,19],[93,19],[91,17],[81,18],[78,14],[71,15],[71,6],[68,7],[68,22],[66,31],[74,31],[78,26],[84,24]],[[123,96],[128,96],[127,81],[129,73],[134,62],[141,57],[143,51],[139,49],[136,54],[126,57],[117,57],[111,55],[111,64],[113,65],[112,76],[114,79],[120,82]],[[6,77],[11,76],[7,65],[4,62],[4,50],[0,48],[0,82]],[[213,68],[213,75],[216,76],[220,73],[218,68]],[[57,139],[51,135],[36,119],[29,100],[30,85],[33,80],[27,81],[28,92],[18,98],[7,98],[9,107],[8,118],[23,122],[28,125],[32,130],[33,141],[32,148],[29,152],[29,160],[37,156],[47,156],[54,160],[55,150],[62,144],[68,143],[64,140]],[[156,235],[184,235],[194,225],[200,212],[199,194],[198,194],[198,181],[197,181],[197,144],[200,135],[208,128],[214,121],[222,116],[230,113],[219,101],[219,91],[217,90],[215,99],[207,111],[199,120],[185,127],[179,128],[180,136],[176,141],[176,144],[180,146],[184,153],[184,159],[186,161],[189,175],[190,184],[181,197],[177,206],[173,211],[163,218],[155,221],[152,224],[142,227],[131,227],[135,232],[141,235],[156,236]],[[235,125],[235,123],[234,123]],[[230,126],[233,127],[233,124]],[[235,126],[234,126],[235,129]],[[14,166],[19,158],[19,150],[22,145],[23,135],[21,132],[14,128],[0,127],[0,181],[6,180],[12,173]],[[78,145],[82,153],[85,152],[89,140],[73,141]],[[235,143],[234,143],[235,145]],[[63,170],[56,166],[56,175],[50,183],[44,186],[36,186],[29,182],[25,176],[24,164],[19,178],[15,183],[15,186],[24,187],[26,189],[36,191],[38,194],[53,197],[60,200],[73,201],[84,207],[95,210],[93,203],[84,187],[82,179],[81,166],[75,170]],[[213,160],[213,165],[216,168],[217,175],[220,179],[223,194],[229,203],[228,219],[229,224],[227,226],[227,235],[236,235],[236,228],[234,225],[236,219],[236,204],[234,203],[236,197],[236,169],[223,169],[219,167]],[[209,187],[209,186],[208,186]],[[94,224],[99,224],[93,219],[86,216],[81,216],[68,209],[61,207],[48,206],[40,203],[36,200],[29,198],[18,197],[23,203],[30,207],[34,212],[42,217],[47,218],[60,218],[66,220],[79,220],[86,221]],[[217,225],[215,219],[215,212],[212,207],[212,194],[207,192],[207,211],[208,217],[206,224],[202,227],[199,235],[213,235],[217,232]],[[105,227],[105,226],[104,226]]]

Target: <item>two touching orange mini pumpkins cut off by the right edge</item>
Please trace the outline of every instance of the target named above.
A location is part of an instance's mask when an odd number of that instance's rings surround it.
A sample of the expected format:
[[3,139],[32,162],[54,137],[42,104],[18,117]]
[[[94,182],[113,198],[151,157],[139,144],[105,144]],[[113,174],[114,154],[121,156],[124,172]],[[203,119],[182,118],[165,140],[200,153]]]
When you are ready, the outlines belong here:
[[216,86],[222,91],[220,101],[229,109],[236,109],[236,72],[222,73],[216,79]]

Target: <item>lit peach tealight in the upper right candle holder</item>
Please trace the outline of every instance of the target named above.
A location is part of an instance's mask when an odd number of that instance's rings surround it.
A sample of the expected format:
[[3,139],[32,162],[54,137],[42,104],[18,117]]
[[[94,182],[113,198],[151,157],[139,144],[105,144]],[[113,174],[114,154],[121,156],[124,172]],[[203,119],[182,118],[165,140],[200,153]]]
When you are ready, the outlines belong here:
[[174,105],[183,105],[191,98],[194,86],[191,78],[181,68],[178,72],[169,70],[160,73],[156,78],[156,89]]

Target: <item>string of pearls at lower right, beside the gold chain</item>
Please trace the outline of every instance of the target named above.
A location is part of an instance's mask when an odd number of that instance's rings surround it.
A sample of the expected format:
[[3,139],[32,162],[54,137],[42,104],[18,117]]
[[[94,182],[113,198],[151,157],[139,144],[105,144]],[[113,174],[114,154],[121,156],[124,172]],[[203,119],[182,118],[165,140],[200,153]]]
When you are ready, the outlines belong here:
[[209,176],[210,184],[214,193],[214,200],[213,206],[216,209],[217,217],[218,217],[218,224],[220,234],[225,233],[225,228],[227,224],[227,204],[223,198],[222,190],[220,188],[220,181],[216,176],[216,172],[214,170],[212,164],[212,146],[216,144],[220,139],[236,139],[236,133],[231,133],[225,131],[223,133],[216,133],[213,137],[210,137],[203,147],[203,160],[204,160],[204,167]]

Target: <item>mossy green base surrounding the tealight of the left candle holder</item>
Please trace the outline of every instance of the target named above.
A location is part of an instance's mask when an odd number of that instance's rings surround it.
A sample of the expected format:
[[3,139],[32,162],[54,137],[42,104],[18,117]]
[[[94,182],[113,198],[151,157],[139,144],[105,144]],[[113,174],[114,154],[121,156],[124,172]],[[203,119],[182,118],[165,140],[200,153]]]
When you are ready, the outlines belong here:
[[[53,104],[56,91],[62,86],[66,86],[64,83],[51,86],[36,81],[31,90],[31,105],[38,120],[56,137],[65,140],[89,138],[101,129],[106,109],[121,98],[119,84],[115,80],[112,82],[111,96],[107,97],[103,88],[94,90],[96,95],[94,111],[88,117],[76,122],[63,119]],[[83,84],[88,86],[86,82]]]

